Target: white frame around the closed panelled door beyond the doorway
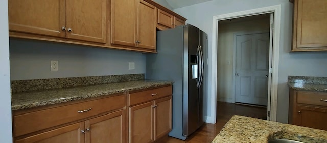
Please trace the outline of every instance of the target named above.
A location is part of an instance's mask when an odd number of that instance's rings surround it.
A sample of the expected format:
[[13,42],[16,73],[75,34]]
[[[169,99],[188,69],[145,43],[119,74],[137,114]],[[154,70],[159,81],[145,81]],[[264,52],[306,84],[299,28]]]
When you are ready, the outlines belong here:
[[[233,41],[234,42],[233,43],[233,75],[234,76],[233,76],[233,81],[232,81],[232,86],[233,86],[233,88],[232,88],[233,89],[233,91],[232,91],[232,102],[233,103],[235,103],[235,101],[236,101],[236,86],[235,86],[236,85],[236,76],[235,76],[236,75],[236,37],[240,36],[240,35],[261,34],[261,33],[268,33],[269,34],[269,30],[253,31],[253,32],[239,32],[239,33],[234,34],[234,41]],[[269,55],[268,56],[270,56],[271,54],[272,54],[272,51],[269,49]],[[268,66],[269,66],[269,61],[268,61]],[[269,70],[269,68],[268,68],[268,70]],[[270,74],[269,74],[269,76],[270,76]],[[269,86],[269,85],[267,85],[267,86]],[[268,94],[268,96],[269,96],[269,94]],[[268,102],[269,102],[269,98],[268,98]],[[270,110],[267,110],[267,111],[270,111]]]

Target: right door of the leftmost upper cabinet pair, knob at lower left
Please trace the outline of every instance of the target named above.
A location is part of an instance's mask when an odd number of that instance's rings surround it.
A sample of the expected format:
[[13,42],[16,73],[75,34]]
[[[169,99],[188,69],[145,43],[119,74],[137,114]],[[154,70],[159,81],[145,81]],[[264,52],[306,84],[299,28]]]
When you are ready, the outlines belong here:
[[66,37],[106,43],[107,0],[66,0]]

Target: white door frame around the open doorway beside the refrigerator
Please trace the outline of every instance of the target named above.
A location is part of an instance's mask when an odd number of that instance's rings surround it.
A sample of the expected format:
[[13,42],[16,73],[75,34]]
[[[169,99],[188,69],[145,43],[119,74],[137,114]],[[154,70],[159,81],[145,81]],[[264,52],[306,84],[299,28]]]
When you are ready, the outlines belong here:
[[[211,61],[211,74],[208,74],[209,85],[211,85],[211,98],[208,98],[208,108],[211,112],[208,112],[206,122],[216,123],[217,115],[217,38],[218,38],[218,22],[220,20],[226,20],[231,18],[240,18],[252,15],[259,15],[265,13],[273,13],[273,61],[271,69],[271,97],[270,97],[270,120],[276,121],[277,119],[277,90],[278,90],[278,63],[279,63],[279,38],[281,31],[281,5],[274,5],[269,7],[263,7],[258,9],[251,9],[246,11],[227,13],[222,15],[213,16],[213,31],[212,31],[212,61]],[[208,89],[209,90],[209,89]],[[209,97],[209,96],[208,96]]]

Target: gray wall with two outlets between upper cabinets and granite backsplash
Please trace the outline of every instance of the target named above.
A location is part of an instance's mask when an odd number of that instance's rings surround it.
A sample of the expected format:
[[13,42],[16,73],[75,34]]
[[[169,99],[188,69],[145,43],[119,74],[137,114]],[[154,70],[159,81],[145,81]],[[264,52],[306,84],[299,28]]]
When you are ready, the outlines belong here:
[[[10,38],[11,80],[145,73],[141,52]],[[50,71],[58,60],[59,71]],[[135,62],[135,70],[128,70]]]

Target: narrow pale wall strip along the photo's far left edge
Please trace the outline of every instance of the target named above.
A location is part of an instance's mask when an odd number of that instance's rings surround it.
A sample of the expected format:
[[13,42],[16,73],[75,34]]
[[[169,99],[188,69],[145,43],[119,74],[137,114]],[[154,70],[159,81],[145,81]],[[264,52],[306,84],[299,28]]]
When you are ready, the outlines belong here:
[[8,1],[0,1],[0,142],[12,142]]

